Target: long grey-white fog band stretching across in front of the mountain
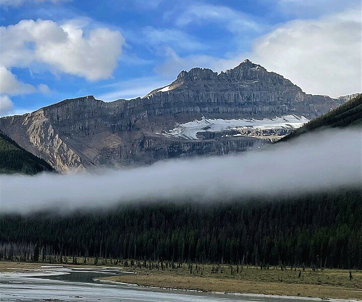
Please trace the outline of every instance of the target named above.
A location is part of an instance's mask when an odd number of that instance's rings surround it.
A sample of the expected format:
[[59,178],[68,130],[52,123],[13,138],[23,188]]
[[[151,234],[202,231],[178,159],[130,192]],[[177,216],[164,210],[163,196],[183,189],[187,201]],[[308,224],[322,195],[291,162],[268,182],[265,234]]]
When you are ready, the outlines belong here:
[[223,201],[360,186],[361,129],[325,130],[233,156],[178,159],[98,174],[0,177],[0,212],[106,208],[155,200]]

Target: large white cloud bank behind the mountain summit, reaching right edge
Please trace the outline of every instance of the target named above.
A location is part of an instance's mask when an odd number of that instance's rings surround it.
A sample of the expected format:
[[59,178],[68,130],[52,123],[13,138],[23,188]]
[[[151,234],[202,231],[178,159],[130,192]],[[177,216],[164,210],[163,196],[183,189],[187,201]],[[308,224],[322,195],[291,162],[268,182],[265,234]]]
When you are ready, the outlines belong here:
[[283,75],[306,93],[337,97],[361,92],[361,20],[358,9],[319,19],[295,20],[255,40],[249,53],[227,58],[179,57],[169,50],[165,62],[155,69],[172,76],[195,66],[221,71],[250,58]]

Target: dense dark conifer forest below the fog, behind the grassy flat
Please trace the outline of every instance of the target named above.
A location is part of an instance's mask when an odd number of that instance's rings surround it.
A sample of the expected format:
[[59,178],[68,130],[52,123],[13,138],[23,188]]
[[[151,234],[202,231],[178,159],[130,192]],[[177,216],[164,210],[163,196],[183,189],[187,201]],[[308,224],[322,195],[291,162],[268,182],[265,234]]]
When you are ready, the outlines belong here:
[[0,216],[0,259],[65,255],[362,269],[362,191]]

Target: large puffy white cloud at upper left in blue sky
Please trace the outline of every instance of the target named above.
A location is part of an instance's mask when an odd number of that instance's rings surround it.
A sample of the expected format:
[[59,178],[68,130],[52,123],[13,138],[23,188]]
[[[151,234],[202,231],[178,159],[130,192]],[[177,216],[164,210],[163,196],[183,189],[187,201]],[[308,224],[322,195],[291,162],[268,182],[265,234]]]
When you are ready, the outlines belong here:
[[84,23],[59,25],[51,20],[22,20],[0,27],[0,56],[6,67],[45,63],[52,71],[79,75],[90,81],[110,78],[122,52],[118,31],[95,28],[85,35]]

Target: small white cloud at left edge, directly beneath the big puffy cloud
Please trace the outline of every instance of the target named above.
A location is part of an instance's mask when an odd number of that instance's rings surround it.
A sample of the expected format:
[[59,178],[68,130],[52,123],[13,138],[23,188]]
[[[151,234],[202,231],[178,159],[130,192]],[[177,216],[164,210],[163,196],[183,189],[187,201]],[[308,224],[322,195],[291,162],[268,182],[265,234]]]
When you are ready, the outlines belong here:
[[34,86],[19,81],[9,69],[0,66],[0,93],[14,96],[33,92],[36,92]]

